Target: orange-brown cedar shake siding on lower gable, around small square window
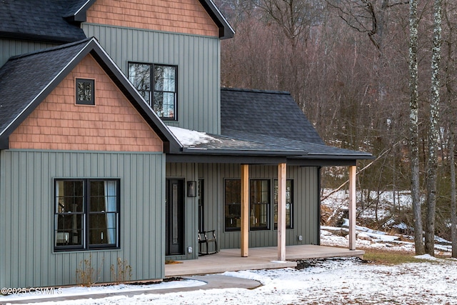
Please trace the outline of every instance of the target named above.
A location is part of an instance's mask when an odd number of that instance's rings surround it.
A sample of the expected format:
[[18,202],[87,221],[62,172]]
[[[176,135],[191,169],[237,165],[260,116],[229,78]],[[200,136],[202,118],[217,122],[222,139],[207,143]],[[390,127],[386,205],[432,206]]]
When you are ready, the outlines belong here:
[[[75,80],[95,80],[95,106],[76,105]],[[163,143],[91,55],[9,137],[11,149],[156,151]]]

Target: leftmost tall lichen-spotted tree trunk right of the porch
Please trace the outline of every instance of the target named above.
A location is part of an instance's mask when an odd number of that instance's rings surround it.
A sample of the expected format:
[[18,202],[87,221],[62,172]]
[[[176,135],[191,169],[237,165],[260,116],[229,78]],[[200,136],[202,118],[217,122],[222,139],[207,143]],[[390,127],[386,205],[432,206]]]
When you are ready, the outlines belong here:
[[421,197],[419,195],[419,131],[418,131],[418,16],[417,0],[409,1],[409,89],[410,89],[410,154],[411,154],[411,199],[413,201],[414,244],[416,255],[424,254],[422,240]]

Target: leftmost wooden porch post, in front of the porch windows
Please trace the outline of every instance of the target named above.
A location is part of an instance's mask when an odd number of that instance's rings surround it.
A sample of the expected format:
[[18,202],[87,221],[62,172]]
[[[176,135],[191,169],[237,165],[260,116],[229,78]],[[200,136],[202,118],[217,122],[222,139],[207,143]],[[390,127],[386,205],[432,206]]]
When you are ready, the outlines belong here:
[[249,165],[241,164],[241,257],[249,249]]

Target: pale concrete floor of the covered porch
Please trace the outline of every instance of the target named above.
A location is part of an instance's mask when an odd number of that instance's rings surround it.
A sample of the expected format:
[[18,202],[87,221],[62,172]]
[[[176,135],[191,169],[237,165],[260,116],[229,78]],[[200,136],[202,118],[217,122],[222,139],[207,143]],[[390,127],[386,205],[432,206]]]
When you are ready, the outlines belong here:
[[278,269],[295,267],[296,259],[324,259],[330,257],[358,256],[365,254],[362,250],[349,250],[331,246],[286,246],[287,261],[278,262],[276,246],[249,248],[249,256],[241,257],[240,249],[224,249],[217,254],[199,256],[199,259],[180,261],[181,264],[166,264],[165,276],[189,276],[196,274],[214,274],[224,271],[254,269]]

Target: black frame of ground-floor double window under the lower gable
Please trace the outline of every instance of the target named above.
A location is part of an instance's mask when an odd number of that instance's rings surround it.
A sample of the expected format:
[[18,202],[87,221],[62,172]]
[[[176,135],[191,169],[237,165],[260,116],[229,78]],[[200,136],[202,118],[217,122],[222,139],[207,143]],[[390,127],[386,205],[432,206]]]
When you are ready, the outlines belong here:
[[[56,211],[56,186],[57,181],[83,181],[83,241],[82,245],[69,245],[69,246],[57,246],[56,245],[56,215],[59,213]],[[116,181],[116,244],[89,244],[89,192],[88,185],[90,181]],[[116,250],[121,249],[121,179],[119,178],[54,178],[53,181],[53,226],[52,226],[52,241],[54,252],[68,252],[68,251],[96,251],[96,250]]]

